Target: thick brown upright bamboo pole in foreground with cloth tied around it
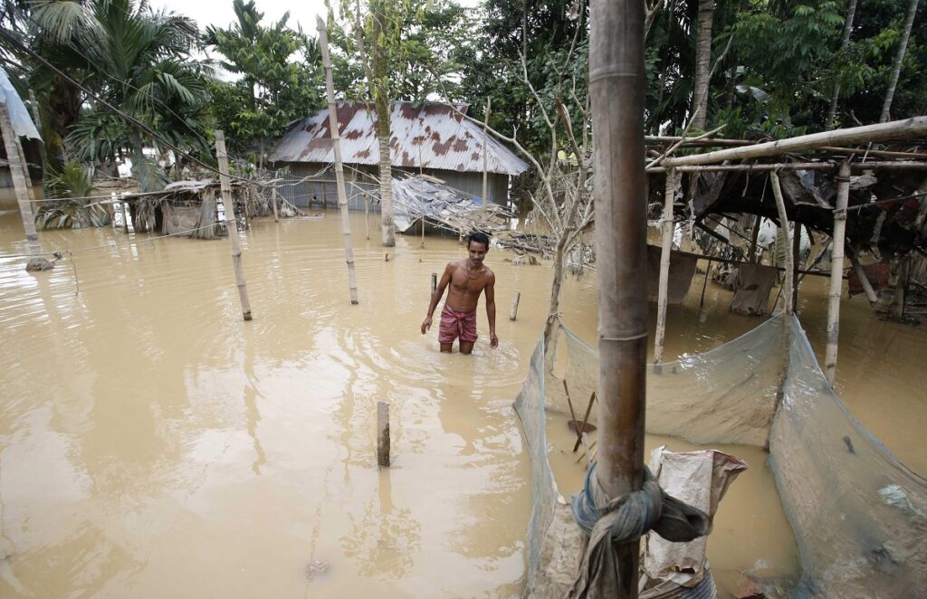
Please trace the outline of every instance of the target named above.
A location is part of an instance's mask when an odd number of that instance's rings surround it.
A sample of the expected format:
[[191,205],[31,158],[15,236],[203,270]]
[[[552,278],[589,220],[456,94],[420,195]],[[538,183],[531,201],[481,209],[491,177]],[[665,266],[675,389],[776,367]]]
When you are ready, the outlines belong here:
[[[643,480],[647,363],[647,181],[644,173],[644,7],[593,0],[589,87],[599,275],[598,483],[617,498]],[[616,547],[619,596],[638,595],[640,541]],[[606,577],[608,578],[608,577]]]

